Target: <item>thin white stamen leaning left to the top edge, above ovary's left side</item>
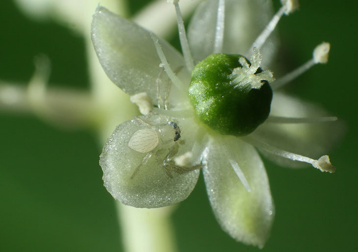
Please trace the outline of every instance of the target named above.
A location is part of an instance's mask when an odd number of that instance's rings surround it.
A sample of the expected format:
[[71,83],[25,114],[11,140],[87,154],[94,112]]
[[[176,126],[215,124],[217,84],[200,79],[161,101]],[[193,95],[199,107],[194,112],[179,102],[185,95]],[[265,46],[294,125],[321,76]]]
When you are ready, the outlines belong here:
[[194,60],[193,60],[193,57],[191,56],[189,43],[188,43],[188,39],[186,37],[184,22],[183,22],[183,18],[181,16],[178,1],[179,0],[173,0],[173,4],[175,6],[175,11],[177,13],[180,45],[181,45],[181,50],[183,51],[186,67],[189,70],[189,73],[191,73],[194,69]]

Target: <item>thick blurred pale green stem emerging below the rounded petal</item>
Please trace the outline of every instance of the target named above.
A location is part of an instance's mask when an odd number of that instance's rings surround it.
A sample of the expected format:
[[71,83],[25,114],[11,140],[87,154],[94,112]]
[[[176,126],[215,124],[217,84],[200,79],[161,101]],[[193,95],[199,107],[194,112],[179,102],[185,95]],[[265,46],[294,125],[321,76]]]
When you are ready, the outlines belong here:
[[170,214],[173,206],[134,208],[116,201],[126,252],[177,252]]

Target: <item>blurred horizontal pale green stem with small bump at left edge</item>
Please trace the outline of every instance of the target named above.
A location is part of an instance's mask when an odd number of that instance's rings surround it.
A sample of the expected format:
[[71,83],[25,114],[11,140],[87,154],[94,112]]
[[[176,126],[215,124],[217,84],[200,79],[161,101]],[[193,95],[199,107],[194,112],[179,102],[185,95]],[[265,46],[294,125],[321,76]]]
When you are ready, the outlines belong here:
[[0,82],[0,111],[33,113],[44,121],[67,128],[95,124],[92,95],[85,91],[46,88],[33,79],[28,87],[19,83]]

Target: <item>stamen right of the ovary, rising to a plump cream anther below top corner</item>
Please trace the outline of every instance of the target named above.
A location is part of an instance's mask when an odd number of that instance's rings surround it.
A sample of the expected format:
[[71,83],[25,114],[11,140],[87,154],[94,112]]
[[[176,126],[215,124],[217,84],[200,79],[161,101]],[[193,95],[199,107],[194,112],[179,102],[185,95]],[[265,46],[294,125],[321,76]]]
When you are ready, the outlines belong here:
[[299,68],[293,70],[291,73],[288,73],[285,76],[282,76],[281,78],[276,80],[275,82],[271,83],[272,89],[278,89],[283,85],[289,83],[291,80],[305,73],[308,69],[310,69],[315,64],[327,63],[329,52],[330,52],[330,43],[327,42],[321,43],[313,50],[312,59],[308,60],[305,64],[303,64]]

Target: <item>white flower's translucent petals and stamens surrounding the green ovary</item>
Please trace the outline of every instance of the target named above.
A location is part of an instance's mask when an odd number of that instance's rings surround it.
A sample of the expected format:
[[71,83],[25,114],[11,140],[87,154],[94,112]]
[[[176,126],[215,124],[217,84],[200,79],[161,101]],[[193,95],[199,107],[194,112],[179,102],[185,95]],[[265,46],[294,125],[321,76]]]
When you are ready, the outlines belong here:
[[[222,135],[218,133],[222,130],[211,129],[197,115],[199,110],[214,107],[215,99],[210,104],[211,100],[205,98],[209,105],[193,109],[188,89],[194,63],[218,52],[253,52],[251,65],[244,57],[236,62],[241,67],[234,68],[230,78],[238,85],[259,90],[267,85],[262,84],[265,81],[272,82],[271,72],[258,70],[260,65],[269,64],[275,51],[274,38],[266,39],[280,16],[292,12],[298,3],[283,1],[278,14],[264,29],[270,16],[268,1],[208,0],[193,16],[188,41],[178,2],[173,3],[184,57],[150,31],[103,7],[94,15],[92,39],[103,69],[146,114],[117,126],[105,144],[100,161],[104,185],[124,204],[162,207],[186,199],[204,167],[206,190],[222,228],[238,241],[262,247],[275,210],[265,168],[254,146],[285,166],[306,162],[321,171],[333,172],[326,155],[315,160],[294,153],[321,155],[325,150],[321,146],[329,146],[334,139],[329,137],[332,124],[322,122],[335,118],[322,117],[322,110],[275,91],[270,116],[261,126],[249,130],[255,129],[253,133],[244,137]],[[259,17],[250,15],[254,10]],[[257,29],[264,32],[251,47]],[[315,50],[312,60],[273,82],[273,87],[283,85],[315,63],[324,63],[319,59],[327,59],[329,49],[324,45]],[[256,48],[262,51],[262,62]],[[190,91],[191,98],[206,95],[200,88],[199,85],[197,93]],[[212,120],[216,119],[221,120],[215,115]]]

